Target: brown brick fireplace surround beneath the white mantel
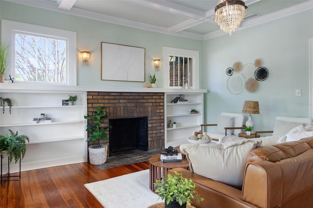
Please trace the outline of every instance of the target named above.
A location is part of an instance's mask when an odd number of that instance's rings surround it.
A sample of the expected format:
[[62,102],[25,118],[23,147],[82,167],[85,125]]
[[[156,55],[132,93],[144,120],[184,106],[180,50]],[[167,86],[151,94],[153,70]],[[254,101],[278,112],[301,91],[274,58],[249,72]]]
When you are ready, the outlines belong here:
[[[87,92],[89,116],[93,108],[101,105],[108,114],[106,126],[109,119],[147,117],[148,150],[164,148],[163,92]],[[105,143],[109,145],[109,141],[110,137]]]

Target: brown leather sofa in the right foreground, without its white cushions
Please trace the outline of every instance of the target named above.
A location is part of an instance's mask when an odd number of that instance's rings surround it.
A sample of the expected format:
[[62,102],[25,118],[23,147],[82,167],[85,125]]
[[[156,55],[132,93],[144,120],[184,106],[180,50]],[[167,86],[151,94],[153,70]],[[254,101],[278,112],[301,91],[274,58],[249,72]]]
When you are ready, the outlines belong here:
[[197,208],[313,208],[313,137],[263,146],[247,157],[242,190],[182,168],[204,199]]

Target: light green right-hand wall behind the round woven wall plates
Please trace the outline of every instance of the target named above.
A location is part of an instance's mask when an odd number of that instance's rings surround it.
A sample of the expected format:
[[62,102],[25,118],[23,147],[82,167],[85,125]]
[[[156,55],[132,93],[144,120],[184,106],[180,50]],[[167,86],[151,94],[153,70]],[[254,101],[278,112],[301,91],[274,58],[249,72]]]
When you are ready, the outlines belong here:
[[[203,42],[203,84],[207,123],[220,112],[241,113],[245,100],[259,101],[260,115],[252,115],[258,130],[272,130],[276,116],[309,115],[309,39],[313,38],[313,10],[291,15]],[[256,93],[231,94],[225,71],[236,61],[262,58],[269,71]],[[301,89],[301,97],[295,90]],[[247,115],[246,115],[247,116]]]

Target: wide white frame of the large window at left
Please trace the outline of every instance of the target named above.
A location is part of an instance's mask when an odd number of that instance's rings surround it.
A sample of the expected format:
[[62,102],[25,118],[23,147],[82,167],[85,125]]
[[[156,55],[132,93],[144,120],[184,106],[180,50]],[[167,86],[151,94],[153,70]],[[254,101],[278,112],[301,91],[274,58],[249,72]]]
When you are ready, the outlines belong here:
[[14,79],[15,83],[69,86],[77,85],[76,32],[9,20],[1,20],[1,42],[9,44],[10,52],[8,54],[8,60],[11,60],[9,61],[8,69],[5,71],[5,77],[8,77],[9,74],[11,74],[11,77],[15,77],[15,35],[21,32],[26,32],[34,36],[48,36],[55,39],[66,40],[66,80],[65,83],[54,83],[18,81]]

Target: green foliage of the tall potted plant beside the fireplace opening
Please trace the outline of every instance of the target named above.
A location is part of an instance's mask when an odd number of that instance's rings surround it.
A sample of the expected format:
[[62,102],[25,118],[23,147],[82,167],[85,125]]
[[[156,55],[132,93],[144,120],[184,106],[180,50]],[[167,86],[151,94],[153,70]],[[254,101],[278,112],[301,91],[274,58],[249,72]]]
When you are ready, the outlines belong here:
[[86,141],[97,141],[98,148],[100,148],[100,140],[108,139],[108,129],[112,129],[112,126],[102,127],[101,120],[107,117],[108,115],[104,110],[104,106],[95,108],[95,111],[92,112],[92,116],[84,116],[85,119],[92,122],[92,124],[87,125],[86,131],[91,136]]

